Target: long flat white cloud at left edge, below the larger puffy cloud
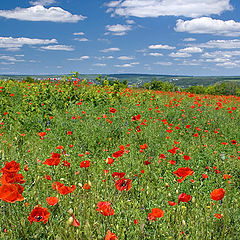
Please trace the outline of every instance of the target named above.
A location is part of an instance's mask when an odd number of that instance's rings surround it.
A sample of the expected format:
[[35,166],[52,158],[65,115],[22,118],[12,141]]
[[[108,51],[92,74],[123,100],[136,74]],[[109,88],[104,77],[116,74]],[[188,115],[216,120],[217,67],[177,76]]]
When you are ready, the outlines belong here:
[[57,43],[56,39],[33,39],[33,38],[12,38],[0,37],[0,48],[7,50],[19,50],[23,45],[46,45]]

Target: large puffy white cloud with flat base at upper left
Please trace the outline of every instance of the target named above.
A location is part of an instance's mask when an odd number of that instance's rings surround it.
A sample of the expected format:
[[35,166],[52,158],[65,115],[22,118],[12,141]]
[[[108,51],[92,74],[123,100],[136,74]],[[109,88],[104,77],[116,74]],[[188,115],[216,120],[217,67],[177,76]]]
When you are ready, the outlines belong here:
[[73,15],[60,7],[45,8],[41,5],[30,8],[15,8],[14,10],[0,10],[0,17],[23,21],[50,21],[50,22],[78,22],[86,17]]

